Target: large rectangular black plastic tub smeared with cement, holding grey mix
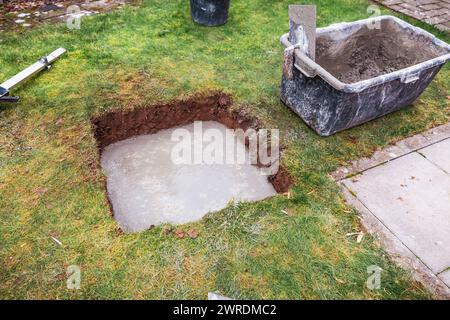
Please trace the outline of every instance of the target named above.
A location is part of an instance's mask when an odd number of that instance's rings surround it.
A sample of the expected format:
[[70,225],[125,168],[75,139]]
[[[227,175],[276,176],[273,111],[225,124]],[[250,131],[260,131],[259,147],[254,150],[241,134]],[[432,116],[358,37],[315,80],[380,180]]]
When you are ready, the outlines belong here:
[[316,61],[295,49],[281,100],[321,136],[411,105],[450,60],[448,44],[391,16],[317,29],[316,49]]

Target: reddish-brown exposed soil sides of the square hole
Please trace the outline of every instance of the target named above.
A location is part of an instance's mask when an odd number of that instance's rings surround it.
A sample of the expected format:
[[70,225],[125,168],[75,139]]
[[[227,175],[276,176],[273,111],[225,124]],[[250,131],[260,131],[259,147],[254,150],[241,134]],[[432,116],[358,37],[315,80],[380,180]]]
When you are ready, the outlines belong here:
[[[189,99],[134,110],[119,110],[92,119],[100,152],[111,143],[133,136],[152,134],[163,129],[182,126],[194,121],[217,121],[230,129],[260,128],[255,118],[243,110],[231,110],[230,96],[218,92],[196,95]],[[278,193],[287,192],[292,177],[282,167],[269,181]]]

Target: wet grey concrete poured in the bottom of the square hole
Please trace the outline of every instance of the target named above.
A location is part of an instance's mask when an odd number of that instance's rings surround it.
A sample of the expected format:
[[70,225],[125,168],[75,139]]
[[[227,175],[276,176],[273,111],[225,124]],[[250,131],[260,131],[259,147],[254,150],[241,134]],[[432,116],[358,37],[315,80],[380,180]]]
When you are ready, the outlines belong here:
[[[192,133],[194,124],[179,128]],[[203,122],[203,130],[212,128],[225,134],[222,124]],[[267,177],[250,164],[174,164],[171,152],[177,142],[171,141],[171,135],[175,129],[120,141],[103,151],[108,196],[124,231],[197,221],[229,201],[256,201],[276,194]]]

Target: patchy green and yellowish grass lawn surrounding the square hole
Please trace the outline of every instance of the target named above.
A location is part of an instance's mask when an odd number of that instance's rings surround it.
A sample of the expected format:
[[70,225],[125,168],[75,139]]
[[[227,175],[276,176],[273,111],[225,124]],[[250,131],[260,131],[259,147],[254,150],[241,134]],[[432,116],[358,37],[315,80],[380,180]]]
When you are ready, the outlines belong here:
[[[346,236],[360,231],[358,214],[328,175],[446,123],[450,68],[414,106],[321,138],[279,101],[279,37],[288,31],[291,2],[232,0],[228,24],[206,28],[191,21],[187,0],[148,0],[85,18],[80,30],[60,24],[0,35],[0,79],[57,47],[68,50],[14,92],[20,103],[0,107],[0,298],[204,299],[208,291],[252,299],[431,297],[370,236],[359,244]],[[368,1],[311,2],[319,26],[370,16]],[[280,129],[292,197],[231,205],[179,227],[197,229],[197,239],[165,235],[164,227],[121,234],[90,118],[213,90]],[[69,265],[81,267],[80,290],[66,287]],[[366,288],[371,265],[383,269],[381,290]]]

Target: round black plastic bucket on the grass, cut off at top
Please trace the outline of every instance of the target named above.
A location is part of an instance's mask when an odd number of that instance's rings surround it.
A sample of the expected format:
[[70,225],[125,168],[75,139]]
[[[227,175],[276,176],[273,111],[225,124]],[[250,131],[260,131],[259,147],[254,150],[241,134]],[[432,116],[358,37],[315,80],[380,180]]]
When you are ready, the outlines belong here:
[[192,19],[209,27],[225,24],[229,8],[230,0],[191,0]]

